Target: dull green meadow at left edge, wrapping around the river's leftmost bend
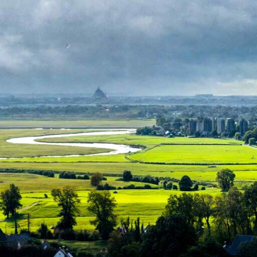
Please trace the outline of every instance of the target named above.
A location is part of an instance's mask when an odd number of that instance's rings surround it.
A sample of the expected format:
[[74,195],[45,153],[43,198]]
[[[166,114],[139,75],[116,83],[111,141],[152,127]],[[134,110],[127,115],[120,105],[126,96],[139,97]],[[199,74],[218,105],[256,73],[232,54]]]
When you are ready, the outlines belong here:
[[0,158],[1,157],[32,157],[47,155],[71,155],[71,154],[94,154],[109,152],[110,149],[69,147],[69,146],[50,146],[50,145],[28,145],[28,144],[12,144],[6,142],[10,138],[19,138],[26,136],[42,136],[55,135],[65,133],[79,133],[86,130],[0,130]]

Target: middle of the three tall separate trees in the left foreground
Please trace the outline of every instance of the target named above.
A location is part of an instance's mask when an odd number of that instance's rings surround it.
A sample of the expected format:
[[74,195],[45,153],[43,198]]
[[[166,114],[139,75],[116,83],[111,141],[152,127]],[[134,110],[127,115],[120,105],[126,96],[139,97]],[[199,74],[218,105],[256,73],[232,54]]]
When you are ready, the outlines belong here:
[[64,228],[73,228],[76,222],[76,214],[79,213],[78,205],[80,199],[75,189],[70,186],[65,186],[61,189],[53,189],[51,194],[54,201],[61,207],[58,217],[61,217],[59,225]]

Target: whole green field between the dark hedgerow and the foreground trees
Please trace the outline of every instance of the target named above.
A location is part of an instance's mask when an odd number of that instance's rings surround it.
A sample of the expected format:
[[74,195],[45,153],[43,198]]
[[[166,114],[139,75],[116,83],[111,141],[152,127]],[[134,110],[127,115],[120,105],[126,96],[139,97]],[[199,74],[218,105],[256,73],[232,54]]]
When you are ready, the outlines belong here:
[[[115,181],[116,178],[108,177],[107,182],[115,186],[123,186],[131,184],[131,182]],[[59,207],[53,201],[50,193],[50,189],[53,187],[62,187],[64,185],[70,185],[76,187],[78,195],[81,200],[80,215],[77,217],[78,225],[75,229],[88,228],[92,229],[89,221],[93,219],[90,213],[87,212],[87,194],[91,189],[89,181],[76,181],[58,178],[45,178],[39,175],[31,174],[0,174],[0,189],[7,188],[9,183],[15,183],[22,190],[22,204],[23,207],[19,213],[21,218],[19,225],[21,228],[26,227],[26,214],[31,214],[31,228],[36,230],[39,224],[44,220],[48,226],[56,225],[59,218],[57,214]],[[78,182],[81,182],[78,184]],[[144,185],[143,183],[135,183],[135,185]],[[51,185],[51,186],[50,186]],[[111,191],[113,192],[113,191]],[[211,194],[220,194],[218,189],[210,188],[206,191],[199,191],[199,193],[209,192]],[[48,195],[45,198],[44,194]],[[118,216],[136,219],[141,217],[145,224],[154,223],[158,216],[164,211],[167,199],[172,193],[181,193],[174,190],[118,190],[117,194],[113,194],[113,197],[117,201],[116,212]],[[4,215],[0,214],[0,226],[4,228],[7,225],[8,232],[14,231],[13,220],[5,220]]]

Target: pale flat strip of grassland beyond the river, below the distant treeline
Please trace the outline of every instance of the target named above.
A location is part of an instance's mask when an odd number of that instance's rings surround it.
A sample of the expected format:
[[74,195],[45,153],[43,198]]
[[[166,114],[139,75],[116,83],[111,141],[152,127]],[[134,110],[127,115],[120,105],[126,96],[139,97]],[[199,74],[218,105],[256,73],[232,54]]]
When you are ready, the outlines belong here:
[[152,126],[155,119],[1,120],[0,127],[115,128]]

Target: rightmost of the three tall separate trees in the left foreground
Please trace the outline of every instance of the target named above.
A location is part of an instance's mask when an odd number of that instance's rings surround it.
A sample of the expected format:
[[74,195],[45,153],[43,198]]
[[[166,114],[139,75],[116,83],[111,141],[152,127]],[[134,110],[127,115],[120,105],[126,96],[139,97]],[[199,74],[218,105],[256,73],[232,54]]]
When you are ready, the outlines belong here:
[[109,191],[92,190],[88,194],[87,202],[88,211],[96,216],[90,223],[96,226],[102,239],[108,239],[117,224],[117,216],[114,214],[116,200],[111,197]]

